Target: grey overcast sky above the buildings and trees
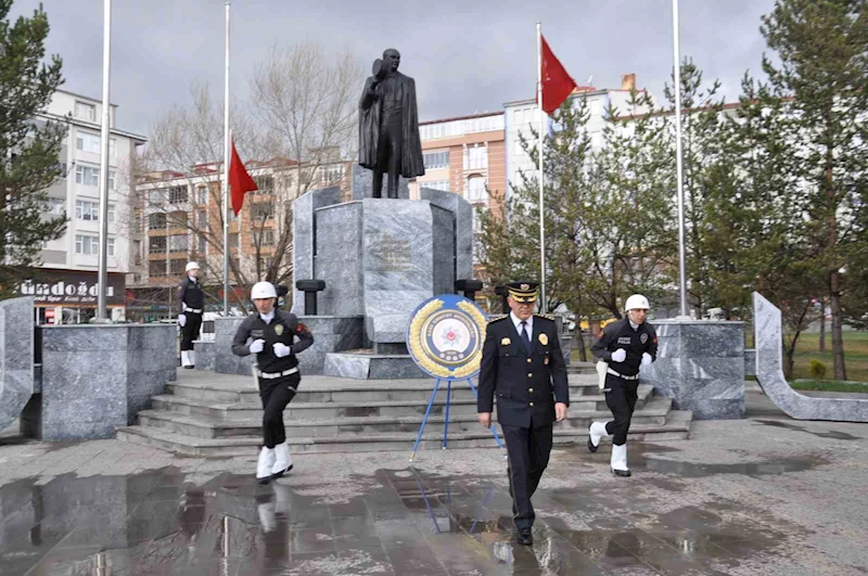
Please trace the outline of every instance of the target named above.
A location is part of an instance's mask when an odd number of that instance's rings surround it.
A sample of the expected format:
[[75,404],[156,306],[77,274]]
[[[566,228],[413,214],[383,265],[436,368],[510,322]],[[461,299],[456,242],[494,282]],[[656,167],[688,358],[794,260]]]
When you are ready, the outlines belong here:
[[[41,0],[51,23],[50,53],[64,61],[65,89],[102,91],[102,0]],[[39,0],[16,0],[13,16]],[[681,53],[707,79],[738,97],[766,49],[761,16],[774,0],[681,1]],[[302,39],[357,53],[367,66],[383,49],[401,52],[416,78],[420,120],[502,110],[534,97],[535,23],[576,81],[618,88],[637,74],[639,88],[662,94],[672,71],[669,0],[234,0],[232,93],[246,98],[247,78],[272,44]],[[222,98],[222,0],[115,0],[112,101],[118,128],[148,135],[163,111],[189,101],[191,81]]]

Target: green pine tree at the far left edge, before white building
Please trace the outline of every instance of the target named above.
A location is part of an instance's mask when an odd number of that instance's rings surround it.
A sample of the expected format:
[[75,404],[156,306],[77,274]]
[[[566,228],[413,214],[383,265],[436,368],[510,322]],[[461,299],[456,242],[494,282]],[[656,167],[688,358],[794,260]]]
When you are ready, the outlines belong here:
[[46,190],[61,177],[65,123],[39,118],[63,82],[61,59],[46,64],[48,15],[9,20],[0,0],[0,297],[39,264],[41,243],[63,235],[66,218],[46,218]]

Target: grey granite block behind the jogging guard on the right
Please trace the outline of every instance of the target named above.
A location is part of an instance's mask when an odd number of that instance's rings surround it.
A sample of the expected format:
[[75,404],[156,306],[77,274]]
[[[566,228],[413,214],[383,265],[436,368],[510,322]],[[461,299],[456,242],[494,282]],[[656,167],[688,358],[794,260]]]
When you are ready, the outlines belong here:
[[744,418],[744,323],[659,320],[658,359],[641,381],[695,420]]

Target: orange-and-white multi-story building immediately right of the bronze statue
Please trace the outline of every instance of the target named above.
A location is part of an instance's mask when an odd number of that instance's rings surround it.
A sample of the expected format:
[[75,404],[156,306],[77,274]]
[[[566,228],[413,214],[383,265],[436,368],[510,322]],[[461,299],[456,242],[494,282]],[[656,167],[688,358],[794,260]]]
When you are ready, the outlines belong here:
[[[502,112],[420,123],[419,136],[425,175],[410,183],[410,197],[418,199],[421,187],[461,194],[475,208],[476,233],[482,232],[478,210],[502,216],[507,194]],[[478,265],[474,268],[478,271]]]

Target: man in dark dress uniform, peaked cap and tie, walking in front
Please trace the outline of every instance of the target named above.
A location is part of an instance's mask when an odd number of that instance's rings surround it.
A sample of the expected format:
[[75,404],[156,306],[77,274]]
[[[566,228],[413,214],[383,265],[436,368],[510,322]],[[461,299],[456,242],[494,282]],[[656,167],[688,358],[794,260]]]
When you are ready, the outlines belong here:
[[534,315],[537,283],[507,285],[511,312],[488,324],[476,405],[483,426],[497,420],[507,441],[512,513],[519,543],[534,542],[531,497],[549,462],[552,423],[566,418],[566,364],[551,318]]

